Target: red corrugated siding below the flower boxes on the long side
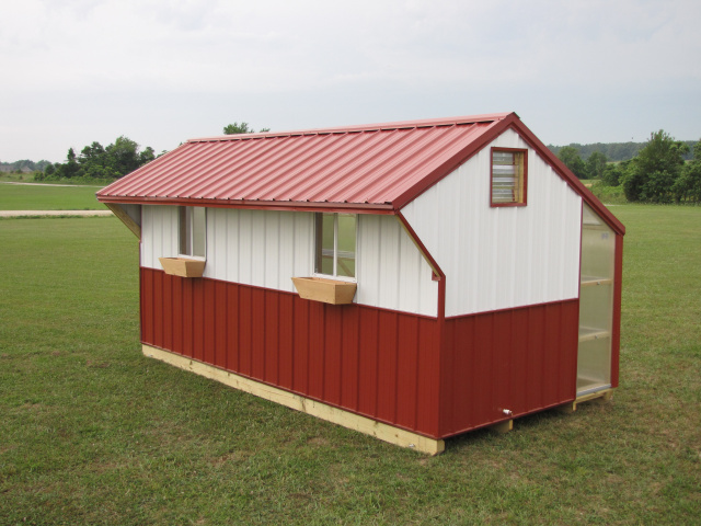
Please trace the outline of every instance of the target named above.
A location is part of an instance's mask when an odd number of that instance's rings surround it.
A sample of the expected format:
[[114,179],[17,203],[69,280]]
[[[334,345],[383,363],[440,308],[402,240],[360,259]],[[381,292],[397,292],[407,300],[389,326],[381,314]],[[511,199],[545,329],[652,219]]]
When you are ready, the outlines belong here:
[[146,344],[437,436],[435,319],[152,268],[141,289]]

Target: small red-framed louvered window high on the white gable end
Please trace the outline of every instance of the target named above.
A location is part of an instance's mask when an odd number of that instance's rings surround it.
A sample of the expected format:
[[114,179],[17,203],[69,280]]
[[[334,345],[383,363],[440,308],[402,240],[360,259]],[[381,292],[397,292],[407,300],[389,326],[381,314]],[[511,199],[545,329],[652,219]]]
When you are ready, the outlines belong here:
[[492,148],[492,206],[526,204],[528,150]]

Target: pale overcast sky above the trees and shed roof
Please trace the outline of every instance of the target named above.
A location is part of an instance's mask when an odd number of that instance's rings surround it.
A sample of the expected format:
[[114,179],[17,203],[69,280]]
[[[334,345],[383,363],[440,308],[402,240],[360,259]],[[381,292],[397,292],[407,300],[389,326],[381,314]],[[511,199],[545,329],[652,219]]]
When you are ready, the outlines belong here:
[[0,161],[119,136],[516,112],[545,144],[701,138],[698,0],[0,0]]

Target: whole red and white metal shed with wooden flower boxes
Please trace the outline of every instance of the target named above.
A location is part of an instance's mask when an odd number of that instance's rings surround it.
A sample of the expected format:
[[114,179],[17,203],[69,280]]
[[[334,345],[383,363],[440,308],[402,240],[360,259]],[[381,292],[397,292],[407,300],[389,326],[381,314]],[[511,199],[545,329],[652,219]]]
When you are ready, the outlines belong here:
[[618,386],[624,227],[515,113],[193,139],[97,192],[143,353],[426,453]]

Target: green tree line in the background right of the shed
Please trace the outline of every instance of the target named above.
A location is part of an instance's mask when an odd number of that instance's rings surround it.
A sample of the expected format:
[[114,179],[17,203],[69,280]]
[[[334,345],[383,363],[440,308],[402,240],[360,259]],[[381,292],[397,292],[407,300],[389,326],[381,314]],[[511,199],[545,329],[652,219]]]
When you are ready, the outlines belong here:
[[584,161],[573,146],[560,148],[558,157],[577,178],[596,180],[595,190],[621,187],[631,203],[701,203],[701,140],[676,140],[660,129],[625,161],[609,162],[600,151]]

